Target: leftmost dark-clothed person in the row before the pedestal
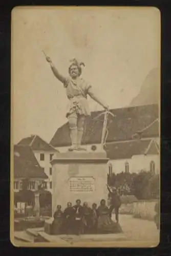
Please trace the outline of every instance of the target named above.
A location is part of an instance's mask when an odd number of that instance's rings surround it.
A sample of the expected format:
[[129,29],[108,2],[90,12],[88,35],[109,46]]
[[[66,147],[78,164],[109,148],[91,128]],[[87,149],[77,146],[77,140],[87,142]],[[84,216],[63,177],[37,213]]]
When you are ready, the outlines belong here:
[[61,234],[63,221],[63,212],[61,211],[61,205],[57,205],[57,210],[55,211],[53,218],[53,234]]

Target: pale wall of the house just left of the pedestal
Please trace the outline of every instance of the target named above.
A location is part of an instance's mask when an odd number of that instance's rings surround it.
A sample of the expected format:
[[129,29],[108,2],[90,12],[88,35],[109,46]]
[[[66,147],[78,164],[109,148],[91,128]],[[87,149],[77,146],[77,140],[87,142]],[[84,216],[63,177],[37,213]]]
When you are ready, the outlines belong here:
[[[45,180],[47,182],[47,190],[52,193],[52,174],[50,173],[50,168],[52,168],[52,165],[50,163],[50,155],[54,154],[54,152],[47,152],[47,151],[33,151],[39,165],[44,168],[44,171],[46,175],[48,176],[48,180]],[[40,160],[40,154],[44,154],[44,160]]]

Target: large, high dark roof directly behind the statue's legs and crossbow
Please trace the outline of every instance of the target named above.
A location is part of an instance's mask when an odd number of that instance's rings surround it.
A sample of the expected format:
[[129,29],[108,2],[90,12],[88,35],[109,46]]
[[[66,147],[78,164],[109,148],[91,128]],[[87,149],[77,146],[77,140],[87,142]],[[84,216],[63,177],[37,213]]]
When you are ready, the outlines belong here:
[[[111,112],[115,115],[108,119],[108,137],[106,142],[131,140],[132,136],[151,124],[159,117],[158,104],[143,106],[132,106],[129,108],[114,109]],[[87,125],[82,137],[82,144],[100,143],[104,116],[97,117],[102,111],[92,112],[87,118]],[[158,137],[158,123],[155,122],[153,129],[149,129],[144,135],[145,138]],[[63,124],[56,131],[50,144],[54,147],[68,146],[71,144],[68,123]]]

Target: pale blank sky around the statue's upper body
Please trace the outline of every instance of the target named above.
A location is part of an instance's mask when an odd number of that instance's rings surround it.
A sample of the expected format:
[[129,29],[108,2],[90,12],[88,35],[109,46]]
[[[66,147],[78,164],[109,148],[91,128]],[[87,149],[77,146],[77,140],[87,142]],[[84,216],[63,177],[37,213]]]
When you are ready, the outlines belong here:
[[[12,136],[50,142],[67,121],[68,99],[42,50],[63,75],[84,61],[82,77],[111,109],[129,105],[146,75],[160,66],[156,8],[15,8],[12,13]],[[91,111],[101,106],[89,98]]]

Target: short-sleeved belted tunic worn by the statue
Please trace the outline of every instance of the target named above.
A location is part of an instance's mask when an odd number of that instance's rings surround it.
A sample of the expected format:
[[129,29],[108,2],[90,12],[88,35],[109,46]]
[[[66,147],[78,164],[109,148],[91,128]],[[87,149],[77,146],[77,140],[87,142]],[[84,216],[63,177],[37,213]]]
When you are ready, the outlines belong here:
[[90,110],[87,96],[91,85],[80,77],[78,77],[76,80],[69,77],[66,79],[63,86],[66,88],[67,97],[70,100],[67,106],[66,116],[68,117],[73,113],[76,113],[77,115],[89,116]]

